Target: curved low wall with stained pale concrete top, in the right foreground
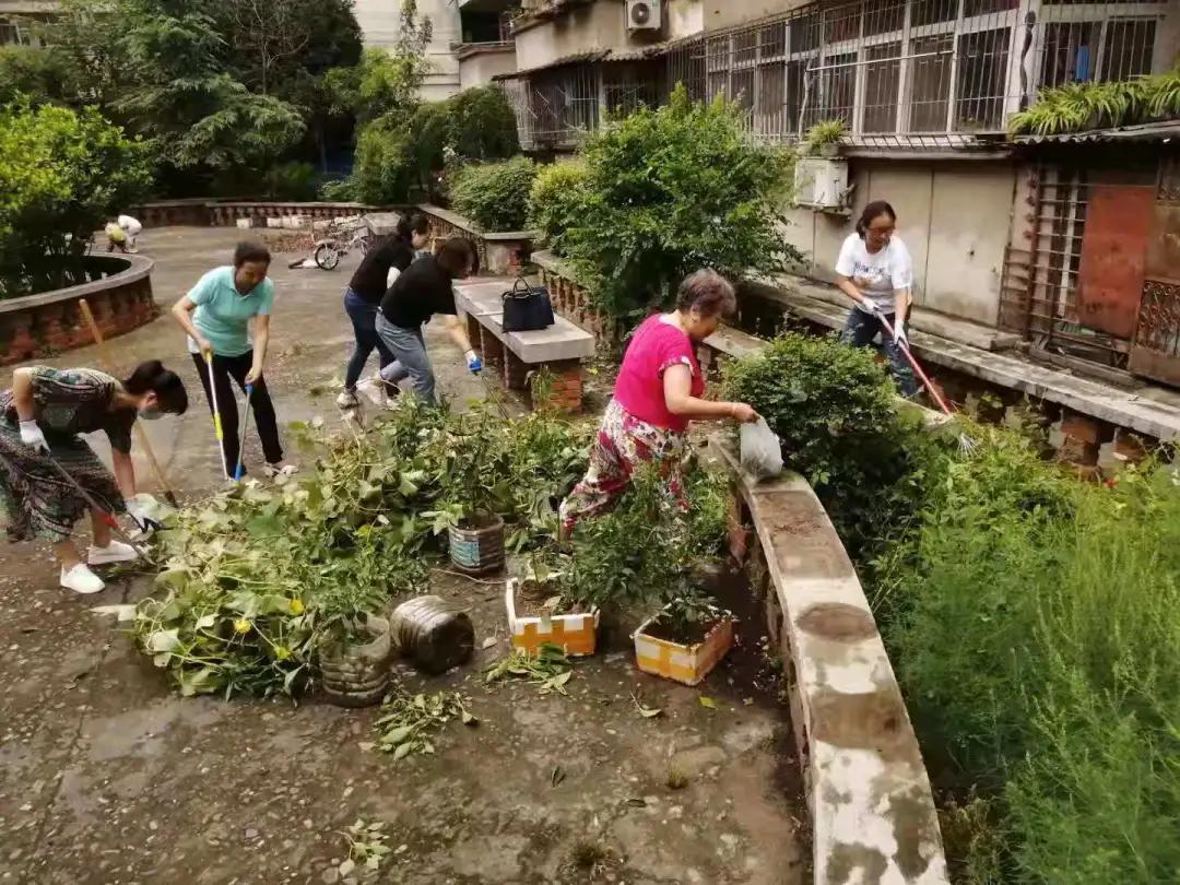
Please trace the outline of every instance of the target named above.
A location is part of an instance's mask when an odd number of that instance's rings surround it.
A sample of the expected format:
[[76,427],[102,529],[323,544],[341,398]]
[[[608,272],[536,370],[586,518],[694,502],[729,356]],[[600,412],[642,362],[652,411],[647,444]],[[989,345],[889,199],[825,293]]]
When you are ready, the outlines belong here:
[[[734,453],[730,548],[782,660],[815,885],[948,883],[918,741],[856,569],[802,477],[756,484]],[[743,529],[753,526],[753,536]]]

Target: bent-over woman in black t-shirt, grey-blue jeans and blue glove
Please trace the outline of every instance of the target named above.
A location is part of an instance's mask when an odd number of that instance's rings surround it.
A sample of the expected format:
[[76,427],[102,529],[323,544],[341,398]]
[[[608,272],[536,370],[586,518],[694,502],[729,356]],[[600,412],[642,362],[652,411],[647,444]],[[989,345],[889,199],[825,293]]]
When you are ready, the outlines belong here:
[[459,322],[451,288],[453,281],[474,273],[477,263],[471,242],[451,237],[438,255],[415,261],[389,287],[376,317],[376,334],[396,358],[381,369],[386,384],[396,385],[408,378],[422,401],[434,402],[434,371],[422,337],[422,326],[434,314],[445,316],[446,333],[464,352],[467,368],[478,373],[484,367]]

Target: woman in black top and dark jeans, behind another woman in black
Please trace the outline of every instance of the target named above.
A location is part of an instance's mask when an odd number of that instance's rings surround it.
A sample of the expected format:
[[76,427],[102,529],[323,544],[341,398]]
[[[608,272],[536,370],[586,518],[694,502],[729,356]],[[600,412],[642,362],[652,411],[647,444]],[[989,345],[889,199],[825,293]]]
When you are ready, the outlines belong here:
[[[414,260],[414,253],[426,245],[430,222],[420,212],[402,215],[398,229],[378,241],[369,249],[345,289],[345,313],[353,322],[356,343],[345,369],[345,389],[336,398],[340,408],[356,407],[356,381],[365,371],[365,363],[378,349],[381,368],[393,362],[394,356],[376,334],[376,312],[385,295],[391,269],[406,270]],[[376,405],[386,404],[386,386],[379,379],[361,384],[361,391]]]

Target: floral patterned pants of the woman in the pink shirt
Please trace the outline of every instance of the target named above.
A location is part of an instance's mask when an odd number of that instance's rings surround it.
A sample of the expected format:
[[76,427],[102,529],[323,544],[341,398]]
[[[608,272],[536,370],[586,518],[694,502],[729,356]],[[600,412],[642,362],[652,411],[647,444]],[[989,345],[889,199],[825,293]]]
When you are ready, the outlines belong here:
[[581,519],[615,506],[635,470],[647,461],[660,465],[668,479],[668,491],[684,506],[680,465],[686,447],[687,434],[642,421],[611,400],[590,450],[590,468],[562,502],[565,533],[569,535]]

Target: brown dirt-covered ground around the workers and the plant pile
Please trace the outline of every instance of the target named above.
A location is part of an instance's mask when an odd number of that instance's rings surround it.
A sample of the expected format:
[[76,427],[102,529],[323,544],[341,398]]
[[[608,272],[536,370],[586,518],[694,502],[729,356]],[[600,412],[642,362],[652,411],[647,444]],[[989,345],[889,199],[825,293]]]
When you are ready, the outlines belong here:
[[[146,231],[162,307],[227,263],[236,235]],[[286,264],[278,256],[273,270],[267,373],[280,418],[337,420],[353,263],[332,274]],[[428,345],[448,396],[483,394],[439,332]],[[189,414],[148,427],[182,497],[208,493],[218,455],[179,329],[165,315],[112,346],[120,368],[158,356],[191,381]],[[257,464],[256,442],[247,452]],[[481,721],[440,735],[434,756],[394,762],[362,746],[375,710],[177,697],[113,618],[92,611],[140,597],[149,578],[78,597],[58,588],[46,550],[0,543],[0,883],[333,883],[341,831],[358,818],[387,822],[384,883],[802,881],[793,742],[754,618],[700,689],[638,674],[634,624],[622,624],[578,664],[569,697],[542,696],[485,687],[479,674],[506,650],[500,584],[435,571],[430,589],[466,603],[479,651],[442,677],[400,664],[398,677],[458,688]],[[496,644],[481,648],[487,637]],[[632,695],[662,715],[642,717]]]

